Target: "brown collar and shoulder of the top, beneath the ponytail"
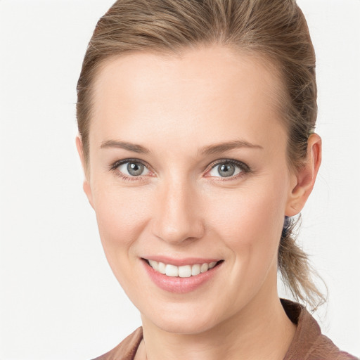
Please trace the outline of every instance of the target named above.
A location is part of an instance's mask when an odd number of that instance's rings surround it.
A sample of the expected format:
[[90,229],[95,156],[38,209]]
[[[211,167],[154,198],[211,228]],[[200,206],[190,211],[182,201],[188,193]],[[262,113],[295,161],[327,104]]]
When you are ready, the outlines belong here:
[[297,330],[284,360],[356,360],[355,356],[342,352],[321,333],[319,324],[302,305],[281,300],[286,314]]

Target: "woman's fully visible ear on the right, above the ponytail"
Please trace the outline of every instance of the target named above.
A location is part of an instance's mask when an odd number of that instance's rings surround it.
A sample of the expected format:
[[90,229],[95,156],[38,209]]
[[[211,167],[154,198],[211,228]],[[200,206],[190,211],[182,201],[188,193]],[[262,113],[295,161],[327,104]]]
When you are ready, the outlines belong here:
[[307,141],[307,159],[304,166],[296,170],[293,175],[291,193],[288,196],[285,215],[293,217],[298,214],[314,188],[316,176],[321,164],[321,137],[311,134]]

